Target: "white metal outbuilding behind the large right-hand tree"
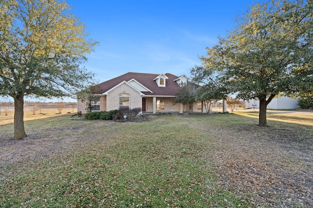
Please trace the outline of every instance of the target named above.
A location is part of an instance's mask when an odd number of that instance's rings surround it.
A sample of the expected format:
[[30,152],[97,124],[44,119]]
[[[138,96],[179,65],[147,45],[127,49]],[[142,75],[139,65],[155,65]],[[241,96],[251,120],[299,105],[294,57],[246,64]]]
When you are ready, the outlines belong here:
[[[251,99],[246,101],[246,108],[260,108],[260,101]],[[298,99],[288,96],[281,96],[273,98],[267,106],[267,109],[279,110],[279,109],[297,109]]]

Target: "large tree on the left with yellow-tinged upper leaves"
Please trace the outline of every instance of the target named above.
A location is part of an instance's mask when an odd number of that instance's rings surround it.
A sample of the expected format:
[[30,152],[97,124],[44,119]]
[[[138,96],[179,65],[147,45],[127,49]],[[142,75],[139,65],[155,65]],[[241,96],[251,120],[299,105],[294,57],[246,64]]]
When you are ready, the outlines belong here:
[[14,138],[26,137],[24,96],[73,96],[93,74],[80,64],[97,42],[59,0],[0,1],[0,95],[14,99]]

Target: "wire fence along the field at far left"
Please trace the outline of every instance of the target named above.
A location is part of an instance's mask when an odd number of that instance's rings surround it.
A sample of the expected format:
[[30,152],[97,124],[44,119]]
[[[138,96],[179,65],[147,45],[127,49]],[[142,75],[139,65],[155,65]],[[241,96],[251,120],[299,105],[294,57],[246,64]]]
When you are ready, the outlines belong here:
[[[34,105],[34,106],[24,106],[24,112],[31,111],[34,114],[40,113],[45,114],[47,112],[56,111],[58,113],[77,112],[77,104],[56,104],[56,105]],[[14,112],[14,107],[12,106],[0,106],[0,115],[8,114]]]

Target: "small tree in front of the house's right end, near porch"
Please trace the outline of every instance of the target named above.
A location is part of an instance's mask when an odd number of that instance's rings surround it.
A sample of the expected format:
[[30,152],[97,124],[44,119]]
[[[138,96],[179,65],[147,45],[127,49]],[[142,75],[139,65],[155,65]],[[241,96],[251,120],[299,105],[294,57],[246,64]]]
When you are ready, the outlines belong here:
[[215,67],[195,66],[190,71],[192,83],[196,85],[196,100],[201,101],[206,113],[210,113],[213,103],[227,97],[227,89],[215,73]]

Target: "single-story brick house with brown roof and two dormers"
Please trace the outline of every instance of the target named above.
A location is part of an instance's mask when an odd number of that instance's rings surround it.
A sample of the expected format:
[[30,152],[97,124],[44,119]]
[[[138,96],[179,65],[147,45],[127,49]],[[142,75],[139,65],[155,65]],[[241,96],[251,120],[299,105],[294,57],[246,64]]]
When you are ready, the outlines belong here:
[[[183,113],[182,104],[173,105],[185,75],[129,72],[98,84],[101,88],[94,111],[141,108],[142,113]],[[86,105],[78,100],[77,111],[86,113]],[[188,106],[188,112],[203,112],[202,103]]]

